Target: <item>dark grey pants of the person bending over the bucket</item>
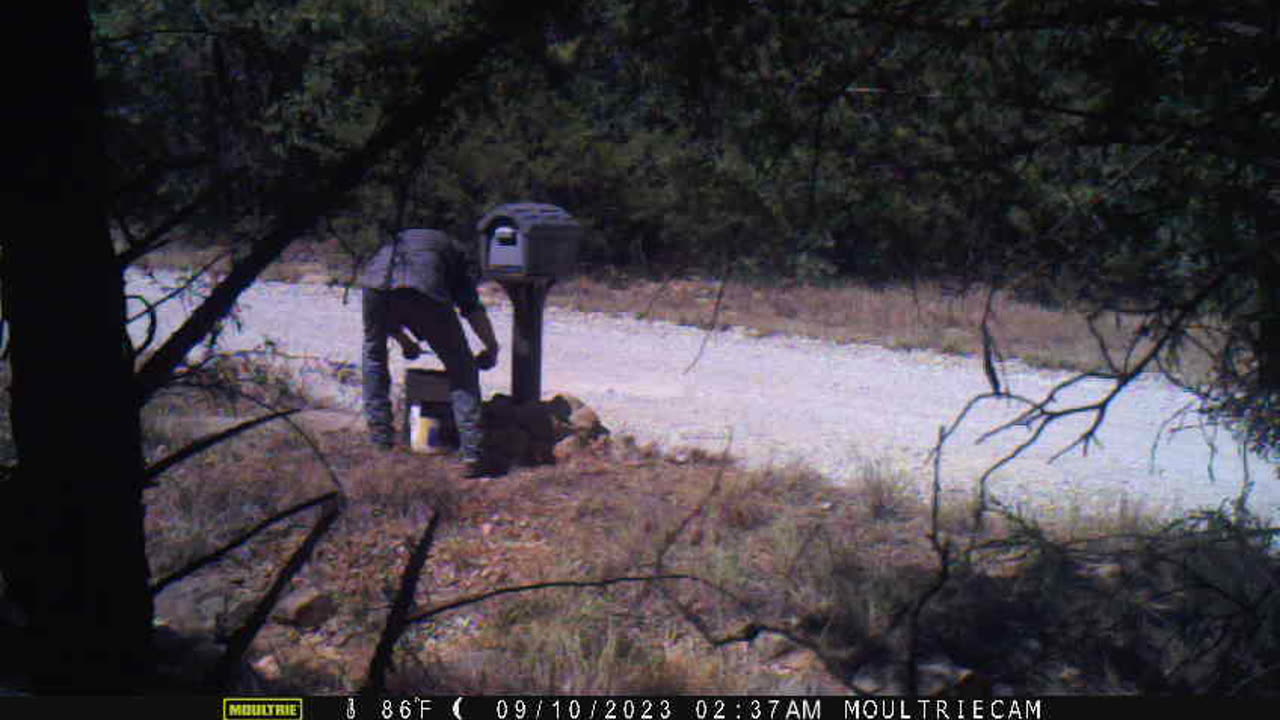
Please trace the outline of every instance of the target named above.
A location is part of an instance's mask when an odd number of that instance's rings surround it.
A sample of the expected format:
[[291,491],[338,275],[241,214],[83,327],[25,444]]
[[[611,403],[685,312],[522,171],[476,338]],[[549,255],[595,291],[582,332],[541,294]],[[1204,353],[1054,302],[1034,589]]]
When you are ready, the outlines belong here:
[[403,327],[413,337],[425,340],[444,364],[462,457],[479,459],[484,441],[480,429],[480,373],[453,306],[406,288],[366,288],[362,305],[365,419],[371,439],[379,445],[392,445],[396,437],[387,342],[392,331]]

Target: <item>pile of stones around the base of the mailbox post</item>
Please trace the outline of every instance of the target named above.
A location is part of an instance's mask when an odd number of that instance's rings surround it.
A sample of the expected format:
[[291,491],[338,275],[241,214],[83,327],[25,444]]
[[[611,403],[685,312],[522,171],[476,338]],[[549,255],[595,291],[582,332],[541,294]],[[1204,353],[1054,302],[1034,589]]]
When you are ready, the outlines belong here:
[[572,395],[517,405],[507,395],[484,404],[485,451],[509,465],[563,461],[609,436],[600,416]]

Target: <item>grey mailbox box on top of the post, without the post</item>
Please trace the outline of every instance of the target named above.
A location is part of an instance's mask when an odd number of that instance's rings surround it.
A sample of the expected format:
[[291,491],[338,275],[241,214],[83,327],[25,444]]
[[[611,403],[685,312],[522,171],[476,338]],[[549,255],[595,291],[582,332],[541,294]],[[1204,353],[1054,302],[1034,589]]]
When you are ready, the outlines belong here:
[[582,225],[556,205],[512,202],[476,223],[480,269],[494,279],[556,278],[573,272]]

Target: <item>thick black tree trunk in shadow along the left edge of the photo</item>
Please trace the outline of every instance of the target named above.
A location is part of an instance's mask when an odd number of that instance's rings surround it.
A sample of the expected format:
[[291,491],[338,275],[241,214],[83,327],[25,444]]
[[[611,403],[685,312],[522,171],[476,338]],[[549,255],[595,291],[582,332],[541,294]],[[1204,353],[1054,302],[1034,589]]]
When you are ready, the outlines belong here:
[[134,692],[152,621],[143,459],[91,24],[84,0],[20,8],[38,9],[9,26],[23,28],[33,82],[6,99],[19,118],[6,131],[22,143],[6,170],[22,193],[0,264],[18,448],[0,498],[0,571],[24,615],[19,652],[36,692]]

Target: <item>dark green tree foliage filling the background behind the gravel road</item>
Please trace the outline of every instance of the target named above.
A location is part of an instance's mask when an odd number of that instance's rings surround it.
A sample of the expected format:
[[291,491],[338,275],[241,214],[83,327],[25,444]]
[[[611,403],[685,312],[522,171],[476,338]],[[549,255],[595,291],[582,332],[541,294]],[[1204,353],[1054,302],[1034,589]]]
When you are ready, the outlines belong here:
[[[265,232],[475,10],[100,3],[125,259]],[[316,215],[360,254],[406,224],[467,236],[526,197],[588,222],[590,264],[927,277],[1134,313],[1167,340],[1152,365],[1266,450],[1276,24],[1257,0],[593,0],[495,36],[447,111]],[[1189,350],[1211,378],[1180,377]]]

